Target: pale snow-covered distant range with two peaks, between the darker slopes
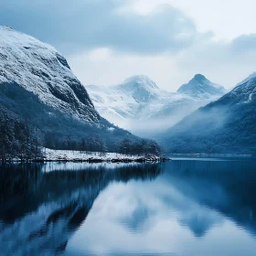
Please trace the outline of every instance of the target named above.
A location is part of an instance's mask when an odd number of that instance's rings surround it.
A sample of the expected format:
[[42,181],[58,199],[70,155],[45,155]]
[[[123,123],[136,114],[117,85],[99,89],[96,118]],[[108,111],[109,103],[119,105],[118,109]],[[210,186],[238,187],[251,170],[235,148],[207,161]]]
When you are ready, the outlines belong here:
[[196,75],[176,92],[161,90],[146,76],[134,76],[116,86],[86,86],[101,115],[133,133],[159,133],[188,113],[218,99],[225,89]]

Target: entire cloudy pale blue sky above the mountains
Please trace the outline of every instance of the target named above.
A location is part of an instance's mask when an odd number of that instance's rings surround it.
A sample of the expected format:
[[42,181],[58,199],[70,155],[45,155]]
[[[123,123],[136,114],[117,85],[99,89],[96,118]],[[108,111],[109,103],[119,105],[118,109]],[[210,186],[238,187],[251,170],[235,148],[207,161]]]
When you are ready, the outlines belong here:
[[201,73],[226,88],[256,71],[253,0],[1,0],[0,25],[57,48],[83,84],[147,75],[176,91]]

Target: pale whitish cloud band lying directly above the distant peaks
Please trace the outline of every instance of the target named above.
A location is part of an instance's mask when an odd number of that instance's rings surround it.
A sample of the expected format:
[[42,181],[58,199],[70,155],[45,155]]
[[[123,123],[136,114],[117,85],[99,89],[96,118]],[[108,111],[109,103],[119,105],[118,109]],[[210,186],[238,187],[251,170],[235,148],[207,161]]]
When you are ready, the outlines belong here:
[[98,48],[68,59],[84,84],[112,85],[144,74],[160,88],[176,91],[195,74],[202,73],[208,80],[231,88],[256,70],[256,42],[253,45],[252,35],[250,40],[241,40],[243,37],[249,38],[242,36],[228,42],[201,38],[197,44],[177,52],[147,56]]

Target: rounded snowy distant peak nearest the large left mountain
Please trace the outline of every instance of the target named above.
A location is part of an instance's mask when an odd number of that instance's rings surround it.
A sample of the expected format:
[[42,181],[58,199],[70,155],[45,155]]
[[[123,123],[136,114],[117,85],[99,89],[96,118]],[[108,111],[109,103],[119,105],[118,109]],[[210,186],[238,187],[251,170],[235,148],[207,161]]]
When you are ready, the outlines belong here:
[[161,92],[155,82],[145,76],[132,77],[116,86],[89,85],[86,88],[101,115],[119,125],[136,118]]

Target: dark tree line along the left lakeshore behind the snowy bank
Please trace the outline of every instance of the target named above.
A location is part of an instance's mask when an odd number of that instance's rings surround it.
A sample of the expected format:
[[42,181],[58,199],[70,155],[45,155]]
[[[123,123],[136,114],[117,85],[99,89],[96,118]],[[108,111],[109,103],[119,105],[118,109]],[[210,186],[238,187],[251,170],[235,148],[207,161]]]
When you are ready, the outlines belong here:
[[35,159],[41,156],[41,145],[59,150],[78,150],[88,152],[116,152],[124,155],[161,155],[162,149],[153,140],[120,139],[110,149],[105,138],[99,133],[85,133],[78,137],[63,136],[58,133],[41,133],[16,113],[5,107],[0,110],[0,160],[2,162],[19,158]]

